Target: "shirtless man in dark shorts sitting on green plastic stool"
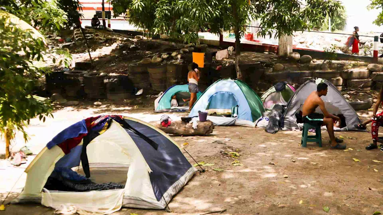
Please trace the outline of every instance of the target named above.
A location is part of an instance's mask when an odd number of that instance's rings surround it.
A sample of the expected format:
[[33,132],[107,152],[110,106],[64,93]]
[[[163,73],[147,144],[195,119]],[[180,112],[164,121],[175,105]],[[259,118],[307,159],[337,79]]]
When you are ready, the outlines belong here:
[[[329,114],[324,107],[324,102],[321,96],[327,95],[327,84],[319,83],[317,91],[312,92],[304,101],[302,108],[303,122],[310,125],[326,125],[327,132],[330,136],[330,145],[334,149],[345,149],[346,145],[340,145],[343,142],[342,139],[338,139],[334,135],[334,122],[340,122],[339,117]],[[315,112],[315,109],[319,106],[323,114]]]

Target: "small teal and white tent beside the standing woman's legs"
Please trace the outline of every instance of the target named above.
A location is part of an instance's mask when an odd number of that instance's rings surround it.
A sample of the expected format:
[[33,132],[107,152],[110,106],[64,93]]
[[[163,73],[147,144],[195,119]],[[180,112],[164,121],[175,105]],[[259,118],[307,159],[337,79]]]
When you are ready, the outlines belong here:
[[[175,112],[177,109],[188,109],[185,107],[187,104],[183,99],[190,98],[188,84],[185,85],[173,85],[169,87],[162,95],[160,95],[154,101],[154,112]],[[201,92],[198,91],[197,99],[201,96]],[[171,101],[172,97],[175,95],[178,106],[172,107]]]

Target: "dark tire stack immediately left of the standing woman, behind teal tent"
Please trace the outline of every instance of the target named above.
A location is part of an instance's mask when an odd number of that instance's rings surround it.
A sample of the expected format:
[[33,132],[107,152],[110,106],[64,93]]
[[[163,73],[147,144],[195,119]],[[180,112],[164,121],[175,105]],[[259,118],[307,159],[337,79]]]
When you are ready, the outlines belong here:
[[171,63],[166,67],[166,87],[179,85],[187,82],[188,67],[185,64]]

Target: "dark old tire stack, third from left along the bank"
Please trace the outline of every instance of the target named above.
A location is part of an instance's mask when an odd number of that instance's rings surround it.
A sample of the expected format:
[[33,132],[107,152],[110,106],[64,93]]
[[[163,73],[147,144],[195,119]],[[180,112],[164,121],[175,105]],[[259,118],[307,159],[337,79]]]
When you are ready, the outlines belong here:
[[90,72],[84,75],[84,92],[88,99],[106,98],[105,77],[106,73],[99,72]]

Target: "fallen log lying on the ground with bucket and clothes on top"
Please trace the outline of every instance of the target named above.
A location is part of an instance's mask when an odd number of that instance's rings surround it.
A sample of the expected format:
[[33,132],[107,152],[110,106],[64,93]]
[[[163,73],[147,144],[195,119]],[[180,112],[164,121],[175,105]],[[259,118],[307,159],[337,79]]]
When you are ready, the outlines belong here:
[[197,121],[197,129],[193,129],[193,123],[172,121],[168,127],[163,127],[160,122],[150,122],[155,127],[163,130],[166,134],[173,134],[176,136],[203,136],[213,133],[214,124],[210,120],[205,122]]

